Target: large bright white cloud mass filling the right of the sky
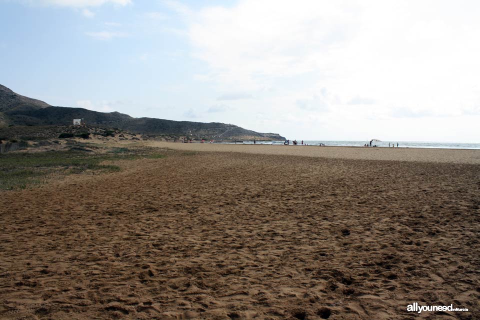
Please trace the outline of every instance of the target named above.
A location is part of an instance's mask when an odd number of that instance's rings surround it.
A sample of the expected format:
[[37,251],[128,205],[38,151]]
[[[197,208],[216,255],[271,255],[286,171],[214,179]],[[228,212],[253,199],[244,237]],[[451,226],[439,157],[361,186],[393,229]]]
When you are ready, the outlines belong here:
[[[168,6],[186,15],[193,55],[208,66],[195,79],[220,92],[262,92],[243,112],[261,109],[261,125],[283,130],[286,118],[297,117],[306,128],[307,114],[321,114],[345,122],[331,125],[332,132],[361,131],[368,118],[450,116],[460,128],[458,116],[477,114],[480,2],[239,0],[197,12]],[[293,108],[300,113],[291,114]],[[433,125],[425,124],[425,132]]]

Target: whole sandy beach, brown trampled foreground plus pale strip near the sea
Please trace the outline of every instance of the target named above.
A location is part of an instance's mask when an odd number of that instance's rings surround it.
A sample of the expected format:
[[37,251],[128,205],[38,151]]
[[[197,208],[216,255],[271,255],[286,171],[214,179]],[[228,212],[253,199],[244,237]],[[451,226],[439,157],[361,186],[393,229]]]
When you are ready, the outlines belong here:
[[0,318],[480,318],[479,151],[228,147],[2,193]]

